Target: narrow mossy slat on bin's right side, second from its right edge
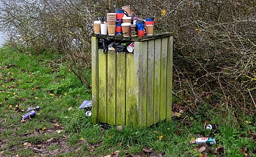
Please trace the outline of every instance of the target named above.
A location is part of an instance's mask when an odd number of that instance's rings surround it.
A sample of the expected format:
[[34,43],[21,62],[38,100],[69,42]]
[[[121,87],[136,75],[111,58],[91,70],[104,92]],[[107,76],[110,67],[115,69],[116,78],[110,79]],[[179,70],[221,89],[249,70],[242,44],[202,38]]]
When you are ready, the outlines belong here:
[[166,60],[168,38],[161,39],[161,77],[160,77],[160,119],[166,116]]

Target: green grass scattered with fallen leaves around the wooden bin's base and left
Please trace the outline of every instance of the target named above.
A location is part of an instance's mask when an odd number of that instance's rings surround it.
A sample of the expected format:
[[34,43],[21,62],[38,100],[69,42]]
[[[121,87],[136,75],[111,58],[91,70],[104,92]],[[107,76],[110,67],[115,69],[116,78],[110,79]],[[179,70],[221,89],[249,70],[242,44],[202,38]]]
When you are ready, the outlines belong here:
[[[17,53],[8,47],[0,49],[0,125],[3,129],[0,139],[8,140],[0,141],[2,156],[40,155],[25,149],[18,141],[33,146],[46,145],[48,151],[61,151],[64,148],[60,144],[47,143],[47,140],[61,140],[64,136],[67,136],[66,145],[76,149],[55,156],[107,156],[117,150],[119,156],[126,156],[127,153],[139,154],[143,146],[172,157],[200,157],[202,154],[214,157],[218,146],[224,148],[224,152],[219,153],[223,157],[243,157],[240,149],[246,146],[250,156],[256,156],[256,142],[250,139],[256,131],[254,117],[239,120],[232,114],[218,112],[204,118],[185,112],[180,117],[174,116],[170,123],[159,122],[145,129],[122,126],[119,131],[116,126],[93,125],[91,118],[84,116],[85,111],[78,108],[83,100],[91,100],[91,91],[80,84],[61,58],[65,57],[50,52]],[[90,77],[89,71],[86,74]],[[173,99],[174,103],[177,101]],[[26,113],[24,110],[36,106],[40,106],[41,111],[31,120],[20,122]],[[12,116],[17,118],[12,119]],[[51,119],[57,120],[56,124],[50,123]],[[206,121],[218,124],[218,129],[207,131],[204,129]],[[53,131],[40,133],[44,129]],[[199,153],[195,147],[200,145],[189,143],[205,135],[217,139],[217,144],[210,146],[215,154]],[[79,144],[79,139],[86,142]],[[12,146],[17,150],[10,149]]]

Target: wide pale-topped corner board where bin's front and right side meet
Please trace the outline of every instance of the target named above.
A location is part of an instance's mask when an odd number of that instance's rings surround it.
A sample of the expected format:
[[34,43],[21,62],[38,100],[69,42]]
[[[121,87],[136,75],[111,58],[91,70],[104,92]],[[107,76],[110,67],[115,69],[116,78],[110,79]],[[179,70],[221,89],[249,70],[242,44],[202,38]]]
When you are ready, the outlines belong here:
[[[134,42],[134,62],[138,63],[136,73],[137,85],[139,87],[137,102],[139,123],[136,127],[147,126],[147,41]],[[136,69],[135,69],[136,70]]]

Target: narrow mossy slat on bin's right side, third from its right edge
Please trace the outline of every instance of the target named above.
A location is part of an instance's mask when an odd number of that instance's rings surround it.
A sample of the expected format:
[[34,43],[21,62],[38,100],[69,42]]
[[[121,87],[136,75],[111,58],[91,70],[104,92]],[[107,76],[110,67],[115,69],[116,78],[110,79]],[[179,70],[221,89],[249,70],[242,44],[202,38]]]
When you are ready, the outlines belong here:
[[155,39],[154,55],[154,113],[153,123],[159,122],[161,77],[161,39]]

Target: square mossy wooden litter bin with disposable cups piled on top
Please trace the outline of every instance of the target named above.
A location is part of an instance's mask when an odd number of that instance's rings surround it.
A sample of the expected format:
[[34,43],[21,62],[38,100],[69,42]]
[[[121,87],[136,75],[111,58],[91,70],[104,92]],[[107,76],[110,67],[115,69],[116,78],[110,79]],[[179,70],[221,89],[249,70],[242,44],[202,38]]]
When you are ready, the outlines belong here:
[[[98,49],[99,38],[134,41],[133,53]],[[173,36],[91,39],[93,123],[148,127],[171,120]]]

